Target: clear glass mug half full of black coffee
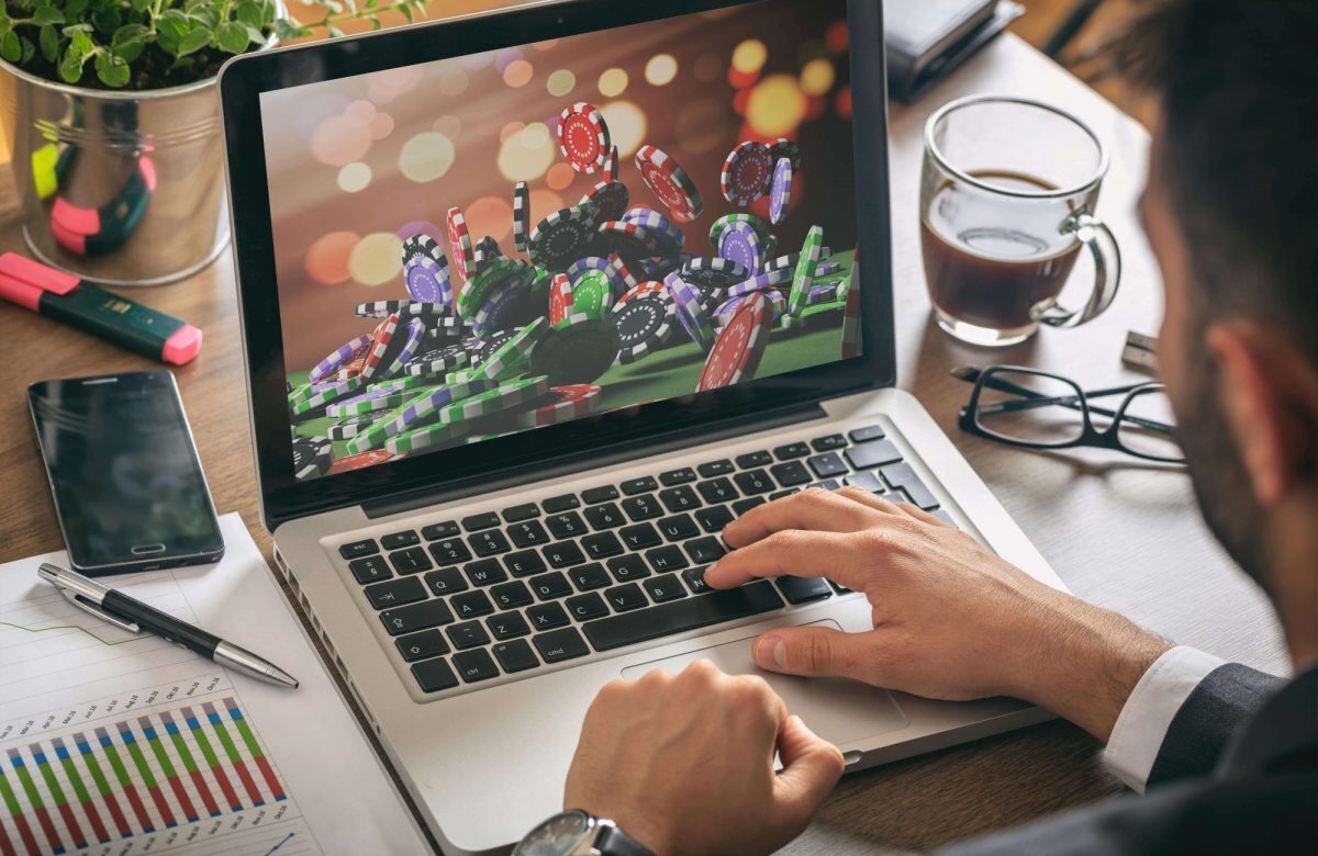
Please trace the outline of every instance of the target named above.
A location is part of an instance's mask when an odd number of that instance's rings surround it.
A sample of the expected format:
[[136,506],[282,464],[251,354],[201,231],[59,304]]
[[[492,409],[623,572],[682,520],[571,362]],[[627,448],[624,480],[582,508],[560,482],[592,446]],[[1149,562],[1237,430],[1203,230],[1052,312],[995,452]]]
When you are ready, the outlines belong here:
[[[975,345],[1014,345],[1040,324],[1077,327],[1116,296],[1122,255],[1094,205],[1103,144],[1048,104],[974,96],[924,128],[920,245],[938,325]],[[1057,298],[1081,248],[1094,258],[1083,308]]]

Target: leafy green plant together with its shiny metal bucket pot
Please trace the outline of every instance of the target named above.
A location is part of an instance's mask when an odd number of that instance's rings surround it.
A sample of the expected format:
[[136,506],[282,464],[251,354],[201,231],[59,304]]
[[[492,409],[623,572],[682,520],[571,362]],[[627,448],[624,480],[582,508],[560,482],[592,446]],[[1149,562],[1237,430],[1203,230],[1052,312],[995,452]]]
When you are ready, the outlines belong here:
[[120,286],[196,273],[229,240],[215,75],[424,0],[0,0],[0,162],[40,259]]

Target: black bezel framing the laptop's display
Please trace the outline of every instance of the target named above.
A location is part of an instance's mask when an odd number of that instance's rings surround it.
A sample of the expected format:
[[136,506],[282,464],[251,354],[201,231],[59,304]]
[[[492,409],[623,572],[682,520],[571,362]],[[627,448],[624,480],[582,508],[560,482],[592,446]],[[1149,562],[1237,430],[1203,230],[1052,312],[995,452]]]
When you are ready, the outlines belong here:
[[266,528],[273,531],[285,520],[385,502],[402,494],[423,490],[438,494],[448,485],[474,478],[526,475],[534,468],[589,460],[601,450],[645,437],[713,431],[738,421],[749,424],[784,410],[895,382],[882,4],[847,0],[857,240],[858,253],[866,259],[859,266],[861,356],[489,440],[481,444],[480,454],[472,454],[469,446],[457,446],[310,482],[294,478],[282,324],[278,290],[273,284],[275,262],[261,94],[734,5],[750,3],[671,0],[660,8],[660,4],[617,0],[550,1],[248,54],[221,68],[233,257]]

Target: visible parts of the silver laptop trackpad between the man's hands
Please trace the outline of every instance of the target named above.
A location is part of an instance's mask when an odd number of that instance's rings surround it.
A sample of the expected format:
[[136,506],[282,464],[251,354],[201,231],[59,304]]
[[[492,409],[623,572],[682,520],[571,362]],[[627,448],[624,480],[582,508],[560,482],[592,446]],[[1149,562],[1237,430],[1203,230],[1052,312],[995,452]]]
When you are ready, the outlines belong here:
[[[832,626],[837,622],[812,622],[812,626]],[[907,718],[887,690],[858,681],[841,678],[797,678],[764,672],[750,657],[754,636],[737,641],[691,651],[676,657],[652,660],[622,670],[625,678],[639,678],[651,669],[681,672],[696,660],[710,660],[728,674],[758,674],[787,702],[787,711],[805,720],[811,731],[836,745],[873,737],[887,731],[905,728]]]

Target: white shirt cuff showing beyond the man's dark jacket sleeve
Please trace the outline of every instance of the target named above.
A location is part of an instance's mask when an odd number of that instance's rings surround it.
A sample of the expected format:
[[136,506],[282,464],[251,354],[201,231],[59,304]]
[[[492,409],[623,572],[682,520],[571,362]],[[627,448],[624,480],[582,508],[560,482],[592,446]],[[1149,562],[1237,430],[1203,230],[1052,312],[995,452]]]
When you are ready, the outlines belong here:
[[1185,645],[1177,645],[1153,661],[1126,699],[1103,751],[1103,762],[1112,776],[1144,793],[1149,770],[1176,712],[1194,687],[1224,662]]

